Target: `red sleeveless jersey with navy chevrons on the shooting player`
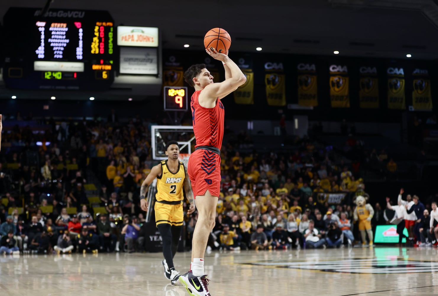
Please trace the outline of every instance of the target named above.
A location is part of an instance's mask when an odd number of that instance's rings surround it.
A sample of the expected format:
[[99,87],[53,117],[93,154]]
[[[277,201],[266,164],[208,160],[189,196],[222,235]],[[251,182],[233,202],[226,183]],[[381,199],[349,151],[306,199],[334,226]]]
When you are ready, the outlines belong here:
[[211,146],[221,148],[223,139],[223,120],[225,110],[222,102],[217,99],[214,108],[205,108],[199,105],[198,97],[201,90],[197,90],[191,97],[193,132],[196,137],[195,148]]

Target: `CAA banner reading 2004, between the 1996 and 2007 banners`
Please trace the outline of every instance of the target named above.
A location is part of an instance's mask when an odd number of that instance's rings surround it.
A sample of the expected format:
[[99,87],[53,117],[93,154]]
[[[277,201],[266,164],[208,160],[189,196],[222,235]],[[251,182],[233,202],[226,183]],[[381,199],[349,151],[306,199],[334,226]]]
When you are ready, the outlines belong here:
[[298,105],[318,106],[318,76],[315,64],[298,64]]

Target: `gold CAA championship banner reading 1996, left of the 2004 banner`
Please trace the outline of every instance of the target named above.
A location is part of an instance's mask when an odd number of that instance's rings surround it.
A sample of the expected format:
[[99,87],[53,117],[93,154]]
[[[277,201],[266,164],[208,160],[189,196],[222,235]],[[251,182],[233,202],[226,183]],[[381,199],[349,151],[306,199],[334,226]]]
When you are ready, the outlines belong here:
[[286,76],[283,63],[265,63],[266,100],[269,106],[286,106]]

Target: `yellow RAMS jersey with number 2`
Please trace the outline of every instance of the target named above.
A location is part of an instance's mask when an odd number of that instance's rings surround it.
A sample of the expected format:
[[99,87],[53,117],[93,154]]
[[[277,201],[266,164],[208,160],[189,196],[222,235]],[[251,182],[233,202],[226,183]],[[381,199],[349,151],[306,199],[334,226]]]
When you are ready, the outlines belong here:
[[184,164],[180,161],[176,174],[173,174],[167,166],[167,160],[161,162],[162,173],[157,177],[157,194],[155,198],[158,201],[180,201],[184,200],[183,184],[185,178]]

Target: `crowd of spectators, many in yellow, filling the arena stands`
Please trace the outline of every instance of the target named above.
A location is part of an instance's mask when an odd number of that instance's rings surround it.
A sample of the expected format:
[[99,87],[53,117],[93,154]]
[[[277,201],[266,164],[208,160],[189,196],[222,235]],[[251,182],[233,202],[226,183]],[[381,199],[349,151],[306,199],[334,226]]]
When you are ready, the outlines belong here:
[[[146,249],[150,224],[139,207],[139,187],[156,164],[151,123],[139,117],[119,123],[114,113],[108,119],[77,125],[49,120],[49,129],[40,134],[28,127],[6,128],[0,161],[0,252]],[[35,146],[37,141],[41,146]],[[360,241],[354,200],[369,198],[360,169],[313,140],[296,138],[293,144],[287,153],[240,154],[224,143],[221,193],[208,248],[325,248]],[[344,197],[329,204],[328,193]],[[392,223],[396,213],[405,215],[401,209],[386,213],[378,203],[373,207],[373,226]],[[416,218],[424,219],[420,214]],[[196,222],[196,212],[185,215],[186,246],[191,246]]]

